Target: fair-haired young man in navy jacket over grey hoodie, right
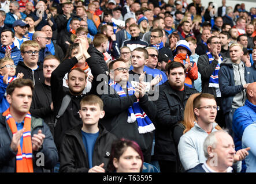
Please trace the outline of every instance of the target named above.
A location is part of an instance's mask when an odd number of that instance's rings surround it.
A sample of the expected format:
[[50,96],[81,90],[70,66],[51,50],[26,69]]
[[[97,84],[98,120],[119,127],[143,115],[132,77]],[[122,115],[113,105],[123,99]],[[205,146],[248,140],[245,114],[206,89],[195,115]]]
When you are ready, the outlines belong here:
[[218,72],[218,80],[221,91],[222,109],[225,116],[225,123],[232,131],[232,117],[236,109],[244,106],[246,101],[246,88],[253,81],[253,74],[241,61],[243,46],[232,44],[229,47],[231,58],[223,60]]

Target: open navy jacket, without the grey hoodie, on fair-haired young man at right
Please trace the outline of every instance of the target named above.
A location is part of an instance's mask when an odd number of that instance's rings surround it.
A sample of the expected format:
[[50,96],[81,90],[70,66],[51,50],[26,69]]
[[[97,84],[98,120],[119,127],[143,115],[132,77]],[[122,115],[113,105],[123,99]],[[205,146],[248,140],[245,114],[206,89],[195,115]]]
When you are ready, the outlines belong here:
[[[224,114],[231,111],[233,98],[237,93],[242,91],[243,85],[235,86],[234,72],[232,63],[221,63],[218,72],[218,83],[220,85],[222,109]],[[244,66],[244,79],[246,83],[252,83],[253,74],[250,68]]]

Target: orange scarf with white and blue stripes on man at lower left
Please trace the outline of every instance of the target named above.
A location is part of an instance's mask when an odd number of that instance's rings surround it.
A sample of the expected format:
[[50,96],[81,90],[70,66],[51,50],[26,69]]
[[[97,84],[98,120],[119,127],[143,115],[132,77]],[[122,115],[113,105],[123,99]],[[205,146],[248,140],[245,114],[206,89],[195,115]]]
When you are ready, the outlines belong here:
[[[10,114],[10,108],[8,108],[2,114],[6,117],[12,133],[17,133],[17,125]],[[24,132],[23,132],[23,149],[21,150],[20,144],[18,145],[18,152],[16,155],[16,172],[17,173],[34,173],[33,159],[32,159],[32,143],[31,143],[31,114],[28,112],[24,118]]]

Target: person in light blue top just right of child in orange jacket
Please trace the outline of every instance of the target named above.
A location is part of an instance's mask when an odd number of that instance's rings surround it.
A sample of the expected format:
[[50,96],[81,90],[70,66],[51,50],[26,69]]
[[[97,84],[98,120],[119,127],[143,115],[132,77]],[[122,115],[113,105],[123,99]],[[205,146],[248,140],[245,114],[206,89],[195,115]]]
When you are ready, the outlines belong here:
[[[198,62],[198,57],[199,55],[197,55],[195,53],[195,49],[196,49],[196,39],[194,37],[187,37],[187,39],[185,39],[188,44],[190,44],[190,51],[191,51],[191,55],[190,55],[190,60],[195,62],[196,66],[197,66],[197,62]],[[202,92],[202,81],[201,81],[201,74],[198,72],[198,78],[194,81],[194,85],[195,85],[195,89],[201,93]]]

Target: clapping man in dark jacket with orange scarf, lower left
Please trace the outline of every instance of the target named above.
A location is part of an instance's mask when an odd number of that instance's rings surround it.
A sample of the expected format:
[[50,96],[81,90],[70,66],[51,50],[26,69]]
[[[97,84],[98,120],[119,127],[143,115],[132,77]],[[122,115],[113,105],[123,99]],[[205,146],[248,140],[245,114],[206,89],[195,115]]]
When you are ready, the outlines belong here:
[[[57,164],[58,152],[49,127],[28,112],[33,90],[29,79],[16,79],[6,89],[10,107],[1,113],[0,120],[0,159],[5,162],[0,166],[1,172],[43,173]],[[38,154],[44,157],[41,164],[36,164]]]

